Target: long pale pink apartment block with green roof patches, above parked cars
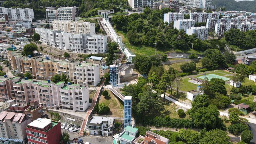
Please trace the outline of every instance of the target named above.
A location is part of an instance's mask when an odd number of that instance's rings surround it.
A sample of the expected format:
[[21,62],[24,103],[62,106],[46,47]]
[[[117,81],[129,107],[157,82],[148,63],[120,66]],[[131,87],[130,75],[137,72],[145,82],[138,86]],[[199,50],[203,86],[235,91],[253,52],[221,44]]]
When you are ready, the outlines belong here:
[[13,83],[16,102],[27,104],[37,100],[44,108],[62,109],[71,112],[85,111],[89,107],[88,86],[80,87],[79,84],[66,85],[60,81],[53,83],[50,80],[22,79]]

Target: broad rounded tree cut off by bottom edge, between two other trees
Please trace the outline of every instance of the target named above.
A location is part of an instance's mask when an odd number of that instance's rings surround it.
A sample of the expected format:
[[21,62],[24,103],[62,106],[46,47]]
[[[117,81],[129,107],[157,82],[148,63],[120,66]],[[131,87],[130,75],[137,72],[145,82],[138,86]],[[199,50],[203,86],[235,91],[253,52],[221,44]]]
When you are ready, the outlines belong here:
[[205,135],[200,140],[199,144],[232,144],[229,140],[230,138],[227,136],[227,132],[211,130],[209,132],[205,132]]

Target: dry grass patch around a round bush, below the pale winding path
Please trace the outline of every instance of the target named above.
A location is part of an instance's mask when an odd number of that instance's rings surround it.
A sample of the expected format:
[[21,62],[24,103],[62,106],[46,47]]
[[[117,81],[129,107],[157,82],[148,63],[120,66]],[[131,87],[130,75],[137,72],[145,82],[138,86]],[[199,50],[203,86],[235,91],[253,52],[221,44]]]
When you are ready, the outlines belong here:
[[177,105],[170,102],[170,101],[166,101],[164,104],[164,111],[161,112],[162,116],[166,116],[169,115],[171,118],[188,118],[189,115],[187,114],[187,112],[185,112],[186,116],[179,116],[177,114],[177,112],[175,111],[176,109],[178,109]]

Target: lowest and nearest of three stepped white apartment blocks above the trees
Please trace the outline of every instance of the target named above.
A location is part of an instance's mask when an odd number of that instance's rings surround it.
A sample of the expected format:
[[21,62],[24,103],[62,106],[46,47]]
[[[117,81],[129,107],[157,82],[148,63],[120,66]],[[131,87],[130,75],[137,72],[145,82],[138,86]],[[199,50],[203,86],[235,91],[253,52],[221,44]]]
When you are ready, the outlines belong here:
[[206,40],[208,35],[208,28],[206,27],[191,27],[187,29],[188,35],[196,34],[197,38]]

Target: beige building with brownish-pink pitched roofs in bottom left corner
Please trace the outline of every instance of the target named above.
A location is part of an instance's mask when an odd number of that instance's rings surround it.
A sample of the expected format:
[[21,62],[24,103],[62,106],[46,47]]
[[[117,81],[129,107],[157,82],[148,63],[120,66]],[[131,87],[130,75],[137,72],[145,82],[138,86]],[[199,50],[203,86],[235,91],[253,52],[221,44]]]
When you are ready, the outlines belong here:
[[31,122],[32,120],[26,114],[2,111],[0,139],[13,144],[27,144],[26,126]]

